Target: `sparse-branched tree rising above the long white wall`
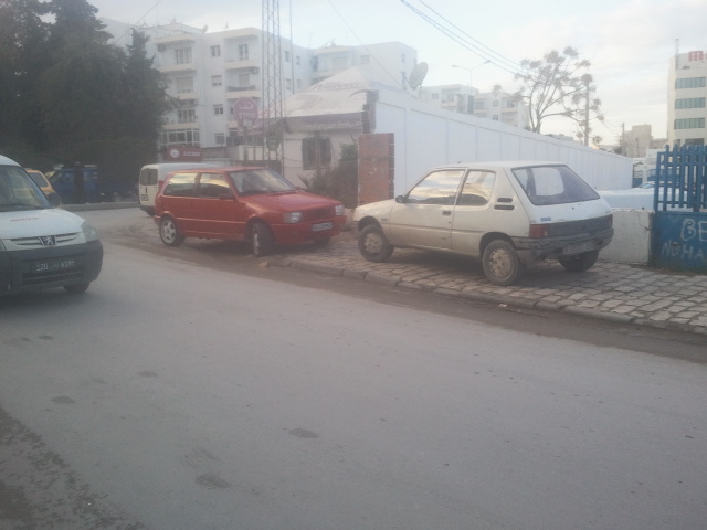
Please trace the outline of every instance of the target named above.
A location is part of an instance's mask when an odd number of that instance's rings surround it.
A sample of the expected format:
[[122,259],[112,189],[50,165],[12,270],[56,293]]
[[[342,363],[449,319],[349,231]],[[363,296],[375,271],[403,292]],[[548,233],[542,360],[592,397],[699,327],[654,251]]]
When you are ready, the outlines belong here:
[[597,87],[588,70],[591,62],[581,59],[577,50],[552,50],[540,60],[524,59],[525,72],[516,74],[523,84],[516,97],[523,98],[530,112],[530,130],[540,132],[542,121],[551,116],[563,116],[581,125],[582,139],[588,141],[591,115],[603,119],[601,100],[593,97]]

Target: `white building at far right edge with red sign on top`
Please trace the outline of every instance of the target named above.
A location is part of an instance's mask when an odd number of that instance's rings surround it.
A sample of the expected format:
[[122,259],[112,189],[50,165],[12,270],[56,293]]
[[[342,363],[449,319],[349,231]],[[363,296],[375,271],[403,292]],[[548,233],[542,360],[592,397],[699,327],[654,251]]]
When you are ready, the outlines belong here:
[[676,54],[668,72],[667,139],[704,146],[707,139],[707,52]]

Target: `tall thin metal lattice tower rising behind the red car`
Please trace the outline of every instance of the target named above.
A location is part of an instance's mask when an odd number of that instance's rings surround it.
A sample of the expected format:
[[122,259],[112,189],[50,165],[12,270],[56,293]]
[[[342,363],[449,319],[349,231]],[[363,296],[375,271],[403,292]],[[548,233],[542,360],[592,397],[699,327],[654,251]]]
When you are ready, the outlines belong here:
[[263,159],[277,166],[284,173],[283,157],[283,77],[282,50],[279,42],[279,0],[263,0],[262,38],[262,116],[263,116]]

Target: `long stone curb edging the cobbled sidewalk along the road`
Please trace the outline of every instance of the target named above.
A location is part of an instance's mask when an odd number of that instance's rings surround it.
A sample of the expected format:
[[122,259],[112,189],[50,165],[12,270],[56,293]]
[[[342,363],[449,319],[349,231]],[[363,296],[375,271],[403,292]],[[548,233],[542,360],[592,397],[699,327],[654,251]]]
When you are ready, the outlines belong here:
[[593,318],[598,320],[605,320],[613,324],[635,325],[655,329],[671,330],[671,331],[685,331],[695,335],[707,336],[707,327],[689,326],[679,322],[671,322],[669,320],[651,320],[648,318],[632,317],[630,315],[621,315],[616,312],[603,312],[594,309],[567,306],[559,304],[551,304],[547,301],[536,301],[528,298],[520,298],[507,295],[490,295],[488,293],[475,293],[473,290],[458,292],[453,289],[446,289],[444,287],[425,289],[424,287],[412,284],[410,282],[403,282],[398,276],[388,276],[379,273],[369,273],[365,271],[351,271],[342,269],[335,265],[326,265],[320,263],[313,263],[302,259],[271,259],[271,265],[279,267],[292,267],[299,271],[309,271],[314,273],[324,273],[333,276],[344,276],[355,279],[362,279],[366,282],[373,282],[377,284],[390,285],[394,287],[401,287],[411,290],[430,290],[437,295],[451,296],[456,298],[464,298],[467,300],[479,301],[484,304],[493,304],[497,306],[510,306],[524,309],[538,309],[549,312],[567,312],[570,315],[577,315],[580,317]]

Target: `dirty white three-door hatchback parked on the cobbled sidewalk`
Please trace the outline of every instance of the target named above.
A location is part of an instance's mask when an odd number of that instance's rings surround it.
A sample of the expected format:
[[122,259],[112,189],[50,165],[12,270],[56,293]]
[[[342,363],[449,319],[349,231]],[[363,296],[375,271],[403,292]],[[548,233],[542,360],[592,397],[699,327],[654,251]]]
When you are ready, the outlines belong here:
[[394,247],[464,254],[481,258],[497,285],[545,258],[587,271],[613,236],[609,204],[559,162],[437,167],[404,195],[358,206],[354,222],[371,262],[388,259]]

